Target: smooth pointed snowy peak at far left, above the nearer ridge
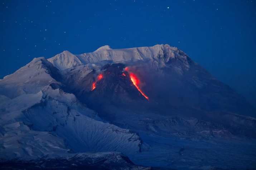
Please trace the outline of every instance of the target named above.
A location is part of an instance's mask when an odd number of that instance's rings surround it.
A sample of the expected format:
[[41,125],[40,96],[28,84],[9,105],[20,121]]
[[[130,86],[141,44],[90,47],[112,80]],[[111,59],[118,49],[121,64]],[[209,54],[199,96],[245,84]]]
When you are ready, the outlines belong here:
[[44,57],[34,58],[29,64],[0,80],[0,94],[11,99],[22,94],[35,94],[50,83],[61,79],[56,67]]

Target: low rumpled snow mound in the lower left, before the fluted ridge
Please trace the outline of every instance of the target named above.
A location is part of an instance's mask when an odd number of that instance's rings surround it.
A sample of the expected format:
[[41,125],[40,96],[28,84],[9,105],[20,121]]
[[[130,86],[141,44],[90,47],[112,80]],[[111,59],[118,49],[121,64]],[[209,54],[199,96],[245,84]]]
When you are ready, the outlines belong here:
[[24,122],[4,126],[7,131],[0,139],[0,158],[41,157],[68,152],[64,140],[46,131],[31,130]]

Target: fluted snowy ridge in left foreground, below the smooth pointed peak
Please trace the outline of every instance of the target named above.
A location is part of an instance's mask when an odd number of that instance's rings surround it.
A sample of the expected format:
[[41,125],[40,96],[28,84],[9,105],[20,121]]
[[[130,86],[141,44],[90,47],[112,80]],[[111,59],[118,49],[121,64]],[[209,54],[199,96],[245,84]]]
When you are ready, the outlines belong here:
[[[103,122],[76,96],[51,86],[37,94],[7,100],[0,104],[0,108],[5,109],[1,115],[4,127],[0,138],[4,147],[2,157],[40,157],[52,152],[66,152],[66,145],[75,152],[134,153],[140,150],[141,140],[136,133]],[[27,127],[23,121],[32,124],[32,129],[17,126]]]

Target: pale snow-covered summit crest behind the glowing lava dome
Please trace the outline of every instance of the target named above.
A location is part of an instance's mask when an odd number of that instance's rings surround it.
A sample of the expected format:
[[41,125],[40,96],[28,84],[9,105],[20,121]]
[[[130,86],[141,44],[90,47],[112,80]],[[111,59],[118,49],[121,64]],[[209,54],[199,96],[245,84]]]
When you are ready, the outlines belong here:
[[[65,52],[65,51],[64,51]],[[129,49],[111,49],[109,46],[102,46],[92,53],[73,55],[69,52],[58,54],[48,59],[59,70],[71,68],[79,64],[99,63],[102,61],[130,62],[137,60],[151,60],[157,62],[160,67],[165,63],[177,58],[186,68],[189,68],[188,56],[175,47],[168,44],[155,45],[152,47],[138,47]]]

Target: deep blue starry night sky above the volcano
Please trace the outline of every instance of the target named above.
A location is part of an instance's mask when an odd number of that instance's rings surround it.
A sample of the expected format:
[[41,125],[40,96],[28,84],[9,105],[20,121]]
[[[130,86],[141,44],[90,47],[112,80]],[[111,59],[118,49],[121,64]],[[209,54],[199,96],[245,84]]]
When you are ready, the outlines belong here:
[[169,44],[256,105],[254,0],[0,2],[0,78],[64,50]]

